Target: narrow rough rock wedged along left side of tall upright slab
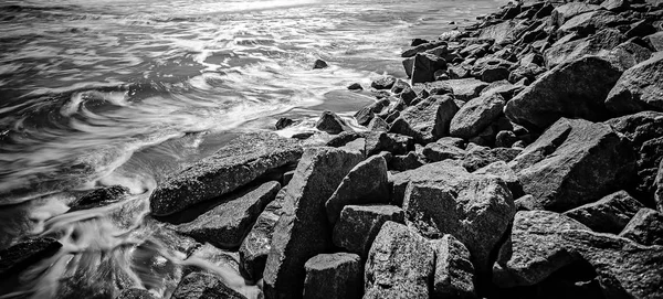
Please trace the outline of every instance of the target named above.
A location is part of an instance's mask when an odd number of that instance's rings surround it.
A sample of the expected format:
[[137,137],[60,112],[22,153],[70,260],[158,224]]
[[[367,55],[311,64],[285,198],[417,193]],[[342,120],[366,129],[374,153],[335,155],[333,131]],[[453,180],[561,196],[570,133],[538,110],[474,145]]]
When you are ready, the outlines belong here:
[[267,255],[272,248],[274,227],[284,212],[285,204],[290,203],[285,202],[285,190],[282,189],[276,199],[270,202],[257,216],[255,224],[240,246],[242,274],[249,279],[257,281],[262,278]]

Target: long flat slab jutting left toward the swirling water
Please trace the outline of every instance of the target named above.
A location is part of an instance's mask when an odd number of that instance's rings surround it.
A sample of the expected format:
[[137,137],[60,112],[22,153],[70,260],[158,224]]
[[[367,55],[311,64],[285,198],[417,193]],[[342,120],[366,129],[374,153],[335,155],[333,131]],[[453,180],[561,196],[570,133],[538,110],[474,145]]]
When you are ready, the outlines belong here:
[[301,145],[274,134],[242,135],[211,157],[169,175],[152,192],[150,210],[168,215],[253,181],[271,169],[295,162]]

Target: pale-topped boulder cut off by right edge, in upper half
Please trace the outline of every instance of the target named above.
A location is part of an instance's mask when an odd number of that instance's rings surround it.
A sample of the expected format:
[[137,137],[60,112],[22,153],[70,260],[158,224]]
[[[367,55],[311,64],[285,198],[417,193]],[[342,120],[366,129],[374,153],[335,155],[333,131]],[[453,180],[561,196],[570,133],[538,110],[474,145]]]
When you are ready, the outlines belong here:
[[644,110],[663,111],[663,54],[656,53],[629,70],[619,78],[606,99],[617,115]]

